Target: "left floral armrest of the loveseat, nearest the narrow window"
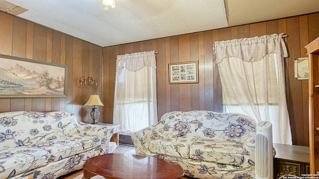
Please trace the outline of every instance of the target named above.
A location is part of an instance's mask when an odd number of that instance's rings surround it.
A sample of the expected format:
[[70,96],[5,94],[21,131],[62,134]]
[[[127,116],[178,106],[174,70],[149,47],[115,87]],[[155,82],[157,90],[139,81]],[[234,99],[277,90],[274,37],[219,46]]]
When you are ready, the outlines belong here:
[[157,154],[152,153],[149,150],[150,142],[153,139],[162,138],[157,133],[157,130],[154,125],[141,129],[134,134],[132,134],[131,138],[135,146],[136,154],[137,155],[144,155],[144,156],[156,156]]

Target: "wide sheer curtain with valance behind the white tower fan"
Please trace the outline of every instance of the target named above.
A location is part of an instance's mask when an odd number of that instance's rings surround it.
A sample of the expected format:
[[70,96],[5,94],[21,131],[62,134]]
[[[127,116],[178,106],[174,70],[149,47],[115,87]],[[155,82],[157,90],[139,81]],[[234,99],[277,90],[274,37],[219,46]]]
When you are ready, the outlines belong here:
[[292,144],[282,35],[215,42],[215,52],[228,110],[272,122],[273,142]]

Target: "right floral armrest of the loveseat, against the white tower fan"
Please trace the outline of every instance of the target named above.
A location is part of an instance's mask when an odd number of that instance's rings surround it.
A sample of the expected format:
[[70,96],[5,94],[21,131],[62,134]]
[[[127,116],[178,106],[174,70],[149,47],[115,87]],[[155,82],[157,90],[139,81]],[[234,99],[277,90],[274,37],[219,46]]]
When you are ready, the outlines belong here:
[[247,131],[241,141],[244,149],[244,163],[252,165],[251,162],[255,162],[256,132]]

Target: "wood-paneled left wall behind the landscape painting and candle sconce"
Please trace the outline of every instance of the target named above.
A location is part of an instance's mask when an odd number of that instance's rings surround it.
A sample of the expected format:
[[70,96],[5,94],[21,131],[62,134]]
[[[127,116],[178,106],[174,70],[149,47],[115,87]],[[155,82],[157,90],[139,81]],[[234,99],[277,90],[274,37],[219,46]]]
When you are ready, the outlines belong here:
[[[70,111],[91,122],[90,94],[102,91],[102,47],[0,12],[0,54],[68,66],[68,94],[58,98],[0,98],[0,112]],[[81,77],[93,75],[99,89],[79,89]],[[101,115],[102,118],[102,115]],[[100,119],[101,120],[101,119]]]

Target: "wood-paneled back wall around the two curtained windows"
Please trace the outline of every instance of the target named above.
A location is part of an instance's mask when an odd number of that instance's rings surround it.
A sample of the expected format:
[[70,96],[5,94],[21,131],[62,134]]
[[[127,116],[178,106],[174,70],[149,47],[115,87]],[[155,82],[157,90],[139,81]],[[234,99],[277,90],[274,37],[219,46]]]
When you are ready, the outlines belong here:
[[[307,57],[304,48],[319,36],[319,13],[241,25],[217,30],[104,47],[105,122],[113,121],[114,82],[117,55],[155,50],[158,75],[158,116],[172,110],[222,111],[221,84],[213,61],[215,41],[285,33],[289,58],[285,59],[288,111],[293,144],[309,146],[308,80],[295,80],[294,59]],[[198,84],[168,83],[168,64],[199,61]]]

